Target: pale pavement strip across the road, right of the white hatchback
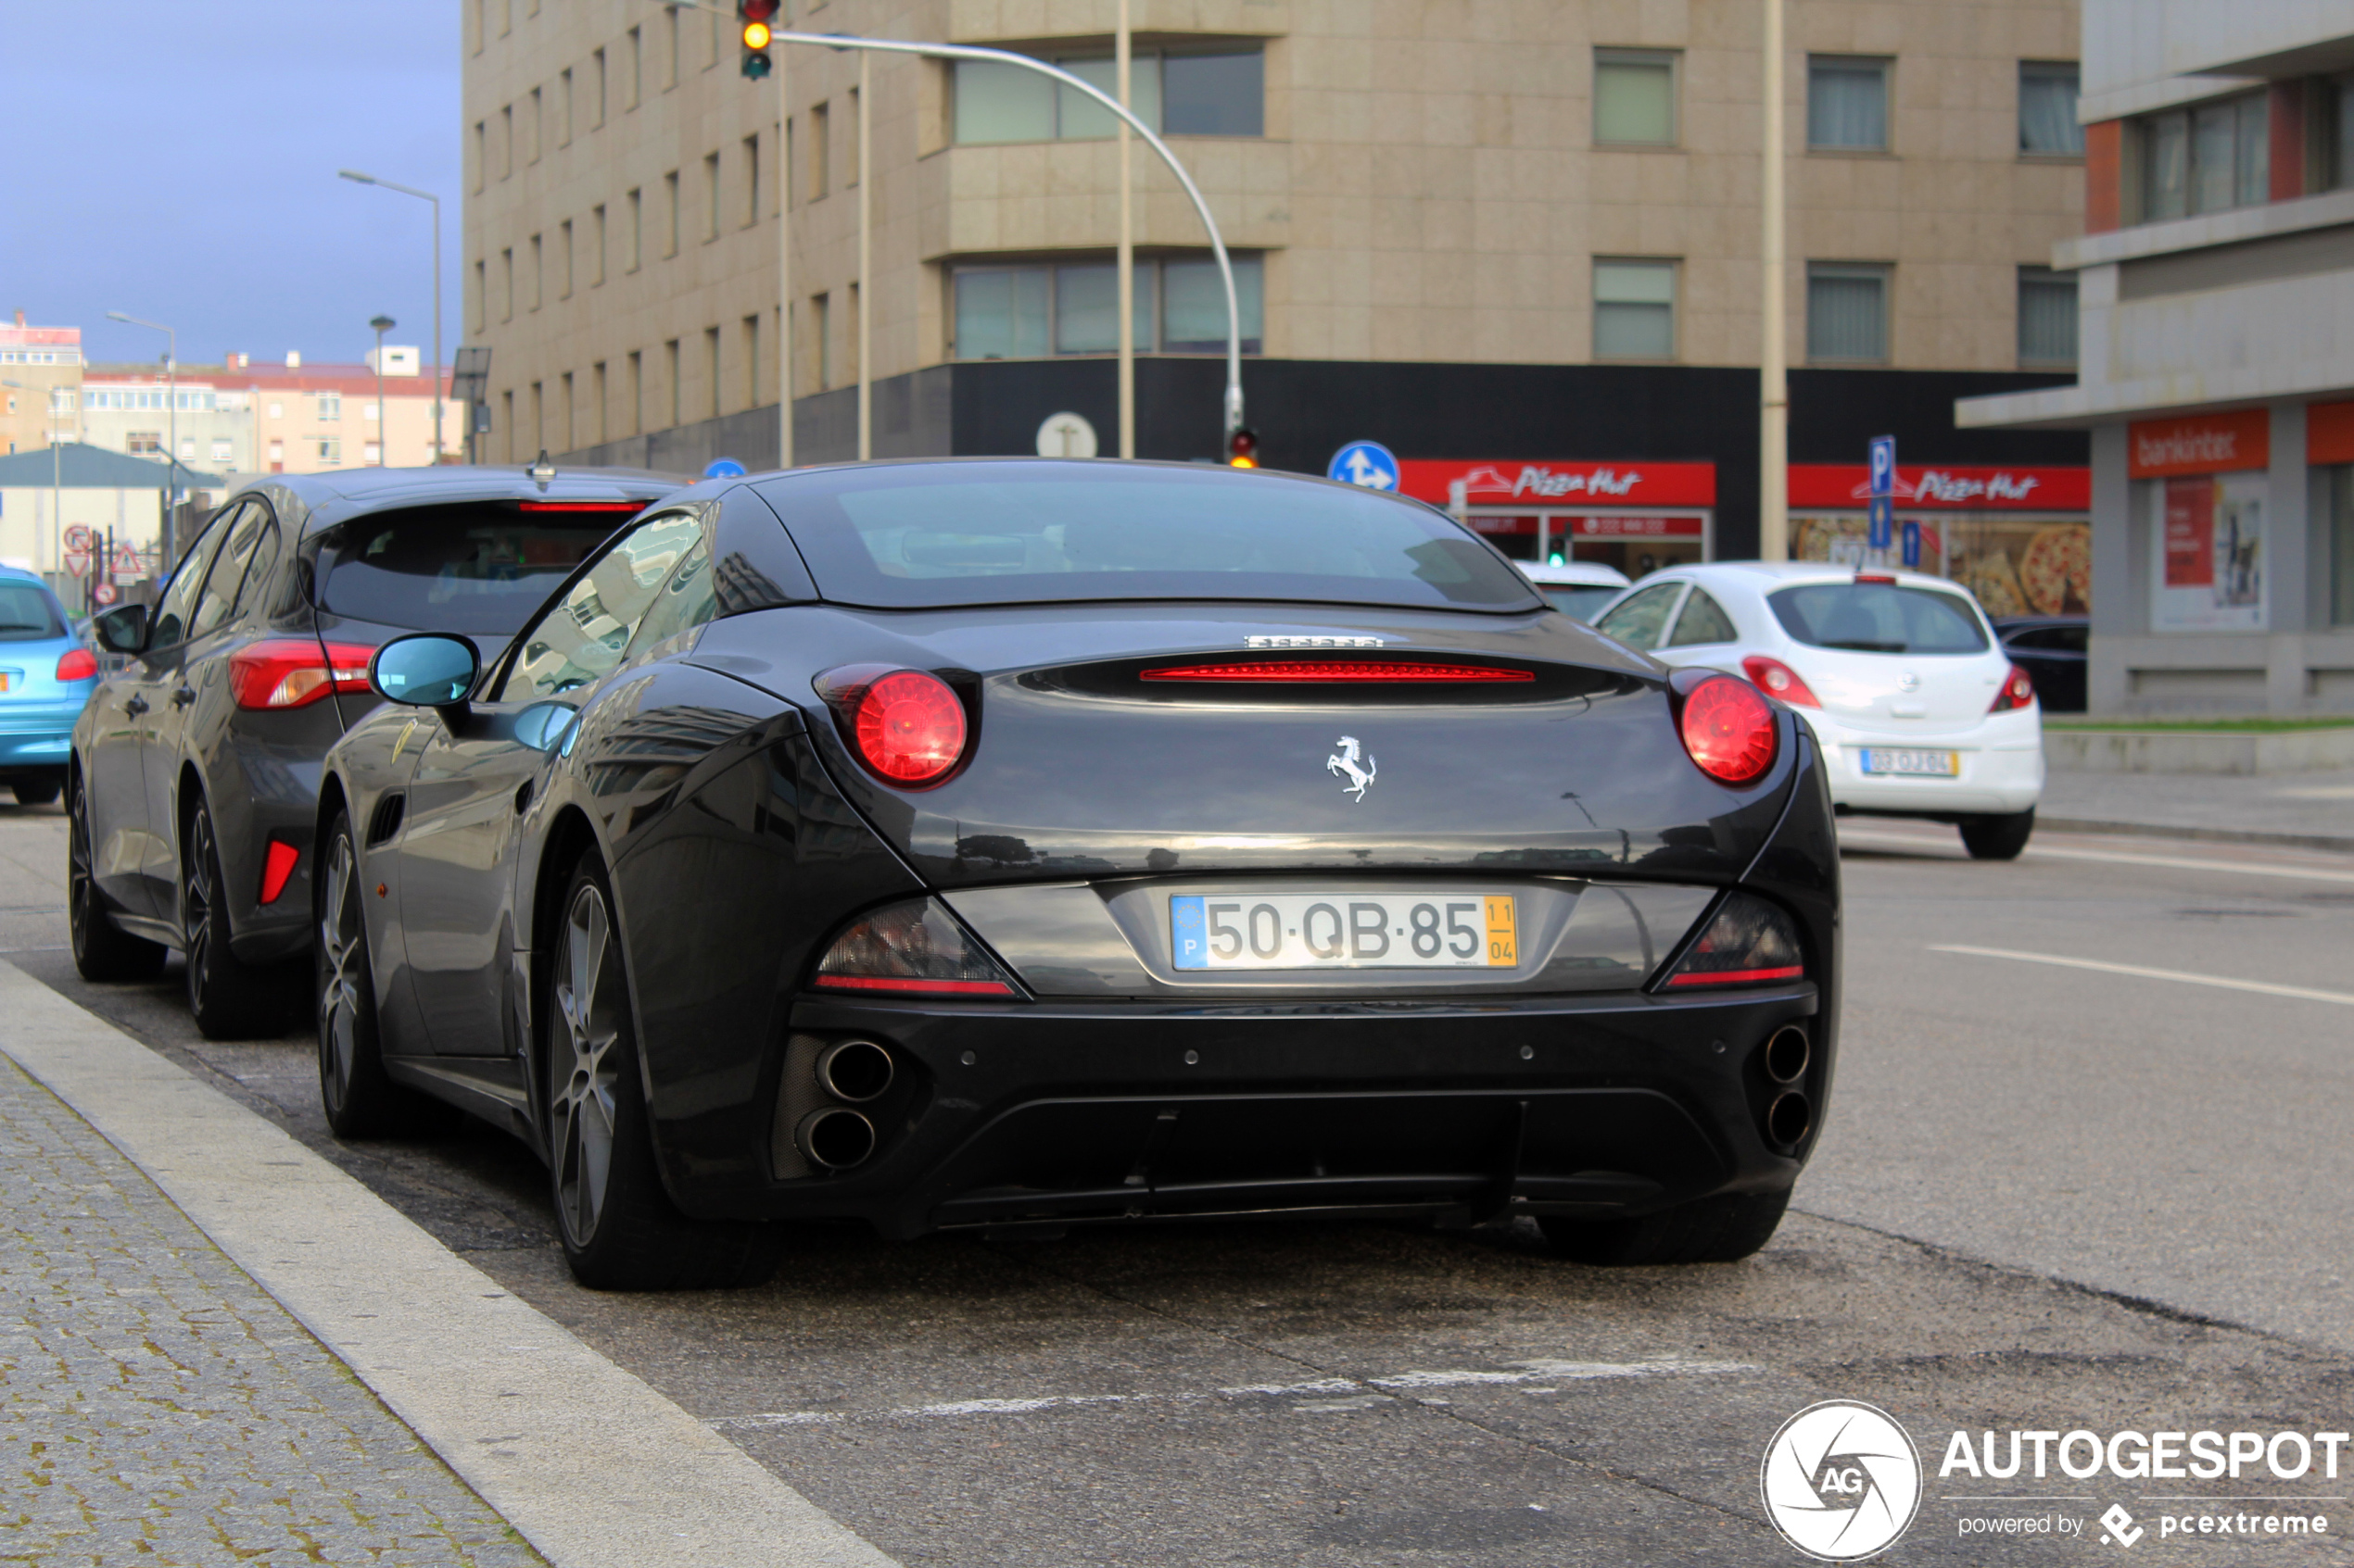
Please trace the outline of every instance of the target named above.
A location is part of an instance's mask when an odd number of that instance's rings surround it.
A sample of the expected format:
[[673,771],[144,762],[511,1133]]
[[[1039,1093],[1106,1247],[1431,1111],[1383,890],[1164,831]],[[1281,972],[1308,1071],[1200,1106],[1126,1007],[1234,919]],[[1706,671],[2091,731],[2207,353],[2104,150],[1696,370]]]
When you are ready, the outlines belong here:
[[2043,776],[2036,825],[2354,851],[2354,769]]

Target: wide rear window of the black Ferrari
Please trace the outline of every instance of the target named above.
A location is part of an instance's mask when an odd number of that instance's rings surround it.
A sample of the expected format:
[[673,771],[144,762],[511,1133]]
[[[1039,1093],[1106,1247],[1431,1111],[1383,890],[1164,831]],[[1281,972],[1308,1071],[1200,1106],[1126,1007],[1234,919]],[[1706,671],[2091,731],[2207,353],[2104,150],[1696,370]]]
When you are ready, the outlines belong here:
[[838,604],[1328,599],[1525,611],[1535,590],[1394,496],[1224,468],[923,463],[760,484]]

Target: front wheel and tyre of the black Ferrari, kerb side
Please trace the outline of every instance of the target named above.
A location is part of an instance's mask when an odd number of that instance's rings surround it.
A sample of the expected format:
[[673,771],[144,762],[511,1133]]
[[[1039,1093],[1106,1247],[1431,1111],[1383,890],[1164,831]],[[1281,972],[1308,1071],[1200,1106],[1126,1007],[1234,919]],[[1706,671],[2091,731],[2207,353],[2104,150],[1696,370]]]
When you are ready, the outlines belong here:
[[367,961],[367,907],[351,816],[327,830],[318,884],[318,1098],[337,1138],[438,1133],[452,1112],[384,1072],[377,1034],[377,971]]

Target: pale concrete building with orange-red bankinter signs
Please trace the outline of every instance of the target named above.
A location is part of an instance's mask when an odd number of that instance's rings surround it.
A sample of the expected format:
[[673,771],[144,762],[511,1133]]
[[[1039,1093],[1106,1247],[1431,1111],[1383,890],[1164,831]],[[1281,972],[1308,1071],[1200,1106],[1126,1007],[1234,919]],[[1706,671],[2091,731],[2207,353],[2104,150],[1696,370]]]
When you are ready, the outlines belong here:
[[2354,712],[2354,12],[2086,0],[2095,712]]

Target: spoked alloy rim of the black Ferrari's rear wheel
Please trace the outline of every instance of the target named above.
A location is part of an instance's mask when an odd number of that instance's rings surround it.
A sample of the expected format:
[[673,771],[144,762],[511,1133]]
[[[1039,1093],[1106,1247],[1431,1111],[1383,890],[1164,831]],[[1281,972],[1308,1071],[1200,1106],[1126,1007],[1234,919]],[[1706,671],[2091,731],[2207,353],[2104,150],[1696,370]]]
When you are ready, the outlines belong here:
[[548,1065],[556,1110],[556,1208],[574,1246],[588,1246],[612,1178],[617,1044],[621,1039],[621,964],[612,917],[596,884],[584,884],[565,912],[556,950],[553,1009],[558,1039]]

